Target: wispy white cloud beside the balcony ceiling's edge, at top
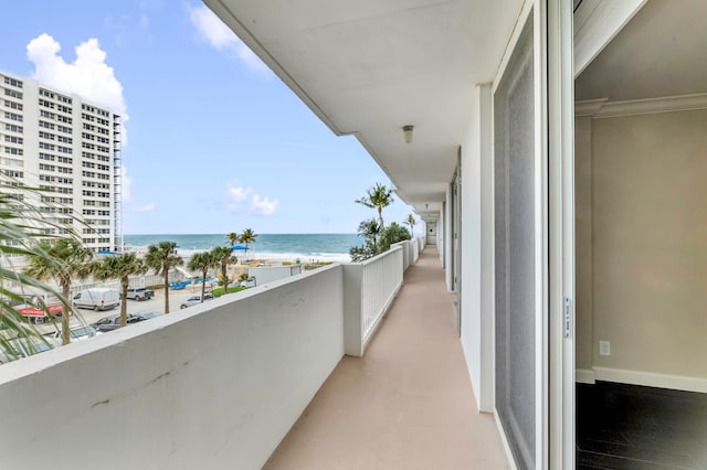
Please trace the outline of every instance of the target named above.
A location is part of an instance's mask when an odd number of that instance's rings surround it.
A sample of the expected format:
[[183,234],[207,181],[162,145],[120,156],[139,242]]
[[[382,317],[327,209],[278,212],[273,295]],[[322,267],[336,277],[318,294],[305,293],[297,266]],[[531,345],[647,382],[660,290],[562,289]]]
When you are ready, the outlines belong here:
[[207,42],[217,51],[230,51],[245,63],[250,68],[264,73],[267,66],[253,53],[243,41],[223,24],[205,4],[198,7],[189,7],[189,19],[197,31],[207,40]]

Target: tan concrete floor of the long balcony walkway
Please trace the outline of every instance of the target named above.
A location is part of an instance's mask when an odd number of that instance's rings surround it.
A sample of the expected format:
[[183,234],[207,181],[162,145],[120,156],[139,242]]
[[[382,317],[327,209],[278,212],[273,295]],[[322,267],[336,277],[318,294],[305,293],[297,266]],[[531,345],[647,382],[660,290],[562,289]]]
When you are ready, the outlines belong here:
[[366,355],[339,362],[264,468],[508,468],[476,408],[453,301],[428,246]]

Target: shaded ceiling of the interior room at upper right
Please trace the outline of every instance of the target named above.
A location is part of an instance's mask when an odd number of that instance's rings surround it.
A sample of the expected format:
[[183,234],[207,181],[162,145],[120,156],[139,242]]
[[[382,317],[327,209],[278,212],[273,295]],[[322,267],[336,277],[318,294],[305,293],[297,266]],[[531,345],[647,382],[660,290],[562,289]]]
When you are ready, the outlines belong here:
[[579,75],[577,100],[707,92],[707,1],[651,0]]

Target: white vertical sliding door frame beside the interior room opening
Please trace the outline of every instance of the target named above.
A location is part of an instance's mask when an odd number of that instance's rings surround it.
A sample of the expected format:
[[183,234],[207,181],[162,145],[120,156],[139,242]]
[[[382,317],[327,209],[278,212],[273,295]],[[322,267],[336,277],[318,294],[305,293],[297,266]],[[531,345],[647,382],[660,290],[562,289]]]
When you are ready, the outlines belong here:
[[574,68],[570,2],[547,0],[548,463],[574,467]]

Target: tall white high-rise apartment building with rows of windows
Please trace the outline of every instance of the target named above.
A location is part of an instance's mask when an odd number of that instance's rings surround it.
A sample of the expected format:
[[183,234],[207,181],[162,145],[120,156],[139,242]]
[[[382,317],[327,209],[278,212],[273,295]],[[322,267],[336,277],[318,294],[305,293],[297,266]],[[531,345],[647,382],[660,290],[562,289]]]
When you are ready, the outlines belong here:
[[30,197],[48,235],[73,231],[96,252],[120,248],[120,131],[104,106],[0,72],[0,174],[42,190]]

